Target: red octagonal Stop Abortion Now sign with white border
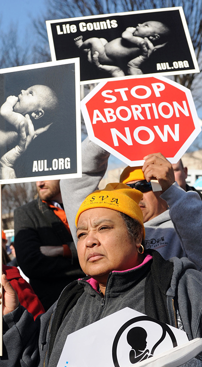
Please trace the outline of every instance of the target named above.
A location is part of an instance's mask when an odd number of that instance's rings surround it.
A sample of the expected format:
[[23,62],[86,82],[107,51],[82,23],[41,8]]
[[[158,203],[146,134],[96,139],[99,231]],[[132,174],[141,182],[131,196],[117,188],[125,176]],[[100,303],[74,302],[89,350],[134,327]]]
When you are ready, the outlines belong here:
[[165,77],[100,83],[81,110],[90,140],[129,166],[157,152],[176,163],[201,131],[190,90]]

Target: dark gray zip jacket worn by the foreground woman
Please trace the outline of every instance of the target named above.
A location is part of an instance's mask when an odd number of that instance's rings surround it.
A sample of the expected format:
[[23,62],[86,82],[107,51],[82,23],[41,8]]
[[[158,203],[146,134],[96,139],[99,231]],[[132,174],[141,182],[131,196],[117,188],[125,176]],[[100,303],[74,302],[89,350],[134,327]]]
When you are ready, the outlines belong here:
[[[124,272],[111,272],[104,298],[97,291],[92,279],[78,280],[83,293],[62,321],[51,355],[49,338],[57,303],[36,321],[23,306],[4,316],[4,355],[0,357],[1,367],[56,367],[70,333],[124,307],[152,316],[153,311],[150,310],[155,309],[162,298],[165,300],[168,323],[177,327],[178,310],[189,340],[201,338],[202,274],[194,270],[194,265],[188,259],[173,258],[164,261],[155,253],[152,253],[153,258],[147,255],[141,266]],[[157,291],[157,297],[151,299],[146,286],[150,271],[153,274],[151,285]],[[169,277],[166,276],[168,274]],[[67,294],[69,288],[70,285],[67,286]],[[161,319],[158,316],[156,318]],[[200,359],[194,358],[192,362],[192,366],[202,365]]]

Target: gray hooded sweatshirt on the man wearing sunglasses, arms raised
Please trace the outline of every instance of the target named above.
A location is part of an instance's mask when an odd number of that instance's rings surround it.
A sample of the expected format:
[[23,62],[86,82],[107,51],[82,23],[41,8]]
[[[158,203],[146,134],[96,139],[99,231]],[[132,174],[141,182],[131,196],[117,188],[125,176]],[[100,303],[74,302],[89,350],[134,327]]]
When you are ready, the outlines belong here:
[[[61,180],[63,204],[74,242],[75,217],[85,197],[97,190],[107,170],[108,153],[86,138],[82,142],[82,178]],[[184,191],[175,182],[161,197],[170,210],[144,223],[145,248],[157,250],[165,260],[187,257],[202,269],[202,201],[197,192]]]

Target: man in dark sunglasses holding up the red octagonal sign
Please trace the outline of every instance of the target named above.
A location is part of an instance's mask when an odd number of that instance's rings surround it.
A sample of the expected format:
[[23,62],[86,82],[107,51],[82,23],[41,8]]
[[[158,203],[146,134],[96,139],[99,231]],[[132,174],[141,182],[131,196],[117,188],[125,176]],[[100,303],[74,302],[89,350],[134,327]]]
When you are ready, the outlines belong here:
[[[142,169],[126,167],[120,182],[143,193],[139,206],[146,232],[145,248],[157,250],[166,260],[188,257],[201,270],[199,217],[194,213],[197,207],[198,213],[202,209],[199,195],[182,192],[172,165],[161,153],[144,159]],[[162,191],[153,192],[150,180],[155,178]]]

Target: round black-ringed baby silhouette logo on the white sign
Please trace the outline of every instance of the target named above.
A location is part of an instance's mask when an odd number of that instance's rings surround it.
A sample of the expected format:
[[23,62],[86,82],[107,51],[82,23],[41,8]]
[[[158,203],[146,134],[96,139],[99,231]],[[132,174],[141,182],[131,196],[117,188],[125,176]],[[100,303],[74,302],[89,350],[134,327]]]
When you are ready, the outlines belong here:
[[148,316],[134,317],[125,322],[115,336],[112,347],[114,366],[129,366],[176,346],[169,325]]

